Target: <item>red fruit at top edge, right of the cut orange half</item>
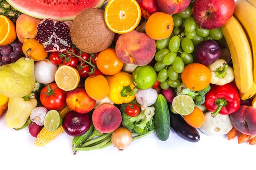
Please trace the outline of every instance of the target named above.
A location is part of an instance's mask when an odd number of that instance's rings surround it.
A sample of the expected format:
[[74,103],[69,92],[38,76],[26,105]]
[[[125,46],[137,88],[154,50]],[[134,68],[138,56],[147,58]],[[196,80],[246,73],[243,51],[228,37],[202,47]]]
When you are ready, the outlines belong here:
[[155,12],[160,12],[160,8],[157,5],[157,0],[136,0],[141,9],[141,15],[148,19],[150,15],[154,14]]

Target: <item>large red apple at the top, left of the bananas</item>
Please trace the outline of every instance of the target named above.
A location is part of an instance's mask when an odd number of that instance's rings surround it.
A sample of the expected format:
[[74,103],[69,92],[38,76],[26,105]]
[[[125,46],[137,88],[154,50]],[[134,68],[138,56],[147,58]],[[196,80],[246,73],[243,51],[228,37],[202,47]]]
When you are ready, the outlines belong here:
[[195,0],[192,15],[201,28],[214,29],[224,26],[234,10],[234,0]]

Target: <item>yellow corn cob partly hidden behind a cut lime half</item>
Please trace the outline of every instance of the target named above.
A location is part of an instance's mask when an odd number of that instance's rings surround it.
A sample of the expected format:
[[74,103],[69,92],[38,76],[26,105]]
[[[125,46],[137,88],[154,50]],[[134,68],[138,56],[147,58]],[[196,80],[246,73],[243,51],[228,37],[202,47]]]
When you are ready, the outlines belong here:
[[[61,109],[61,111],[59,111],[61,113],[61,116],[64,117],[66,116],[66,114],[68,112],[72,111],[68,105],[66,105],[63,109]],[[59,134],[61,134],[63,132],[63,127],[61,125],[61,127],[59,127],[58,129],[50,132],[48,131],[45,127],[40,131],[40,133],[38,133],[38,136],[35,140],[34,145],[37,147],[43,147],[45,146],[47,143],[51,142],[53,139],[55,139]]]

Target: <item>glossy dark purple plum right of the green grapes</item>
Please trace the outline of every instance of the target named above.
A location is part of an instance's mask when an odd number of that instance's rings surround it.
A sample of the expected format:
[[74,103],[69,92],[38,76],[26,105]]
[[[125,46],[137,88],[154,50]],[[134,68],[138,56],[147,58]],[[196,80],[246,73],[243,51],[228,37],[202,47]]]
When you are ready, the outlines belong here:
[[204,40],[200,42],[194,50],[195,61],[203,64],[210,65],[219,59],[221,49],[217,42],[212,40]]

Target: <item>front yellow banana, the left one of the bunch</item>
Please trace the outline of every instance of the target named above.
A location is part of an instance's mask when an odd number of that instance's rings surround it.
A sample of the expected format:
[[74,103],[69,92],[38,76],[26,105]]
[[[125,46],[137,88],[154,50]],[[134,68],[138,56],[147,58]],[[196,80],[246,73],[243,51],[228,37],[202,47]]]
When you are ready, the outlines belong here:
[[235,16],[232,16],[222,27],[222,31],[230,49],[236,86],[240,93],[245,94],[253,86],[253,58],[250,44]]

